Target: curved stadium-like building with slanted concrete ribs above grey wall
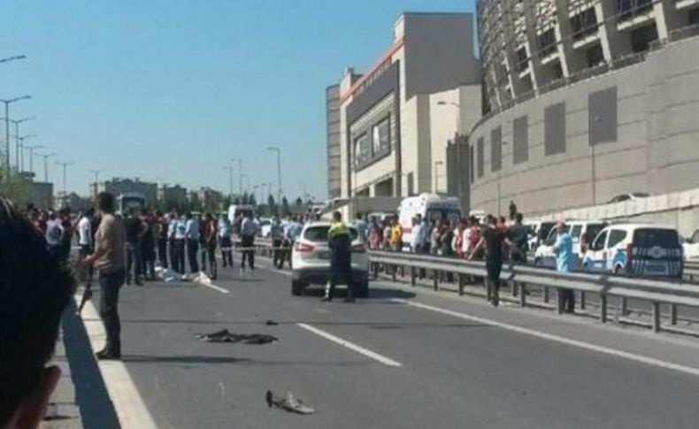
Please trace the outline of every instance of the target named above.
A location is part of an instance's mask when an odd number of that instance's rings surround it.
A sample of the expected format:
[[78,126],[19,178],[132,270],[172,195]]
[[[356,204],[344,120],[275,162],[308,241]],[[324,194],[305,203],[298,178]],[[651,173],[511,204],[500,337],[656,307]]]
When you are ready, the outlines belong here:
[[[529,215],[699,183],[699,2],[483,0],[471,206]],[[509,9],[508,9],[509,8]]]

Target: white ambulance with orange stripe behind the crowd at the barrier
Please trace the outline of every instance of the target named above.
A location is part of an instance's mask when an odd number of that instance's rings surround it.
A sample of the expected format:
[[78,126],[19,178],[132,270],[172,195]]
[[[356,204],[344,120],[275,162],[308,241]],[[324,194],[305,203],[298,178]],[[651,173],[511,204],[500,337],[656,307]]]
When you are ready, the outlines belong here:
[[403,243],[412,241],[412,218],[420,215],[427,221],[461,218],[461,203],[456,196],[420,194],[403,198],[398,206],[398,222],[403,228]]

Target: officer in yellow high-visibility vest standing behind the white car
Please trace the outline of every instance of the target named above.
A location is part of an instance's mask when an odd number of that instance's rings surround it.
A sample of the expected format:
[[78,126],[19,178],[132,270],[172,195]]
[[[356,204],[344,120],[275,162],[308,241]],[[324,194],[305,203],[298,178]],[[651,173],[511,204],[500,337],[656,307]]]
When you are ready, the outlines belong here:
[[350,228],[342,222],[342,214],[339,211],[333,213],[333,223],[327,232],[327,241],[330,248],[330,276],[323,301],[332,301],[335,285],[343,282],[347,284],[345,302],[353,303],[352,239],[350,238]]

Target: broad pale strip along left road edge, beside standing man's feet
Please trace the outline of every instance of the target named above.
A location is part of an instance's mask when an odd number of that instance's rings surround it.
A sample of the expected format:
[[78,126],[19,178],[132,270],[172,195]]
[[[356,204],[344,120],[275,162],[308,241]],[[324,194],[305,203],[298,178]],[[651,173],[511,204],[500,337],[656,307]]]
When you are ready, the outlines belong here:
[[[76,303],[80,303],[81,296],[75,295],[74,299]],[[95,306],[88,301],[85,303],[82,313],[82,323],[88,332],[92,350],[102,349],[106,335]],[[97,365],[111,402],[114,403],[121,428],[157,429],[156,422],[143,402],[134,380],[127,372],[126,365],[120,361],[97,361]]]

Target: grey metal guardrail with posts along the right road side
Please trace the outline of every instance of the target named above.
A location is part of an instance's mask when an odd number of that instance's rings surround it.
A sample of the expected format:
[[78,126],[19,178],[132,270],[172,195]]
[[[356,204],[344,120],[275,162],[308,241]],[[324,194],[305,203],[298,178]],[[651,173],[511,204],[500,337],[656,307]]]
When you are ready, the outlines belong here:
[[[464,276],[486,277],[485,263],[480,261],[465,261],[445,257],[428,255],[416,255],[410,253],[393,253],[384,251],[370,251],[369,255],[374,263],[374,274],[378,272],[378,264],[393,267],[391,275],[396,281],[397,267],[407,267],[411,271],[411,284],[416,284],[417,271],[428,270],[434,272],[434,289],[439,289],[439,273],[447,272],[458,277],[459,295],[464,294]],[[670,305],[670,323],[677,325],[677,307],[699,307],[699,286],[682,282],[670,282],[662,280],[648,280],[614,276],[593,272],[562,273],[553,270],[536,268],[530,265],[504,264],[501,279],[515,282],[521,288],[519,303],[526,305],[526,285],[538,285],[541,287],[568,288],[581,293],[581,306],[584,305],[584,294],[592,293],[600,297],[600,321],[605,323],[607,317],[607,302],[611,296],[622,299],[622,306],[627,299],[647,301],[652,306],[653,331],[661,330],[660,304]],[[513,291],[517,288],[514,287]],[[546,289],[545,289],[546,292]],[[545,298],[546,299],[546,298]],[[559,311],[560,308],[559,303]]]

